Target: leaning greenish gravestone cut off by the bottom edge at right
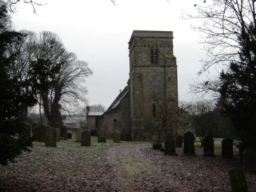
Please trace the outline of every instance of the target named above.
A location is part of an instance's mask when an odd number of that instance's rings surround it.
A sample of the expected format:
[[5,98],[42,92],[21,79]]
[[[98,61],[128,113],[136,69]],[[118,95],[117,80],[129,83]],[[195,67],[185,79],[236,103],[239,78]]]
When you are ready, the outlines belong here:
[[244,172],[239,169],[232,169],[228,172],[232,192],[248,192]]

